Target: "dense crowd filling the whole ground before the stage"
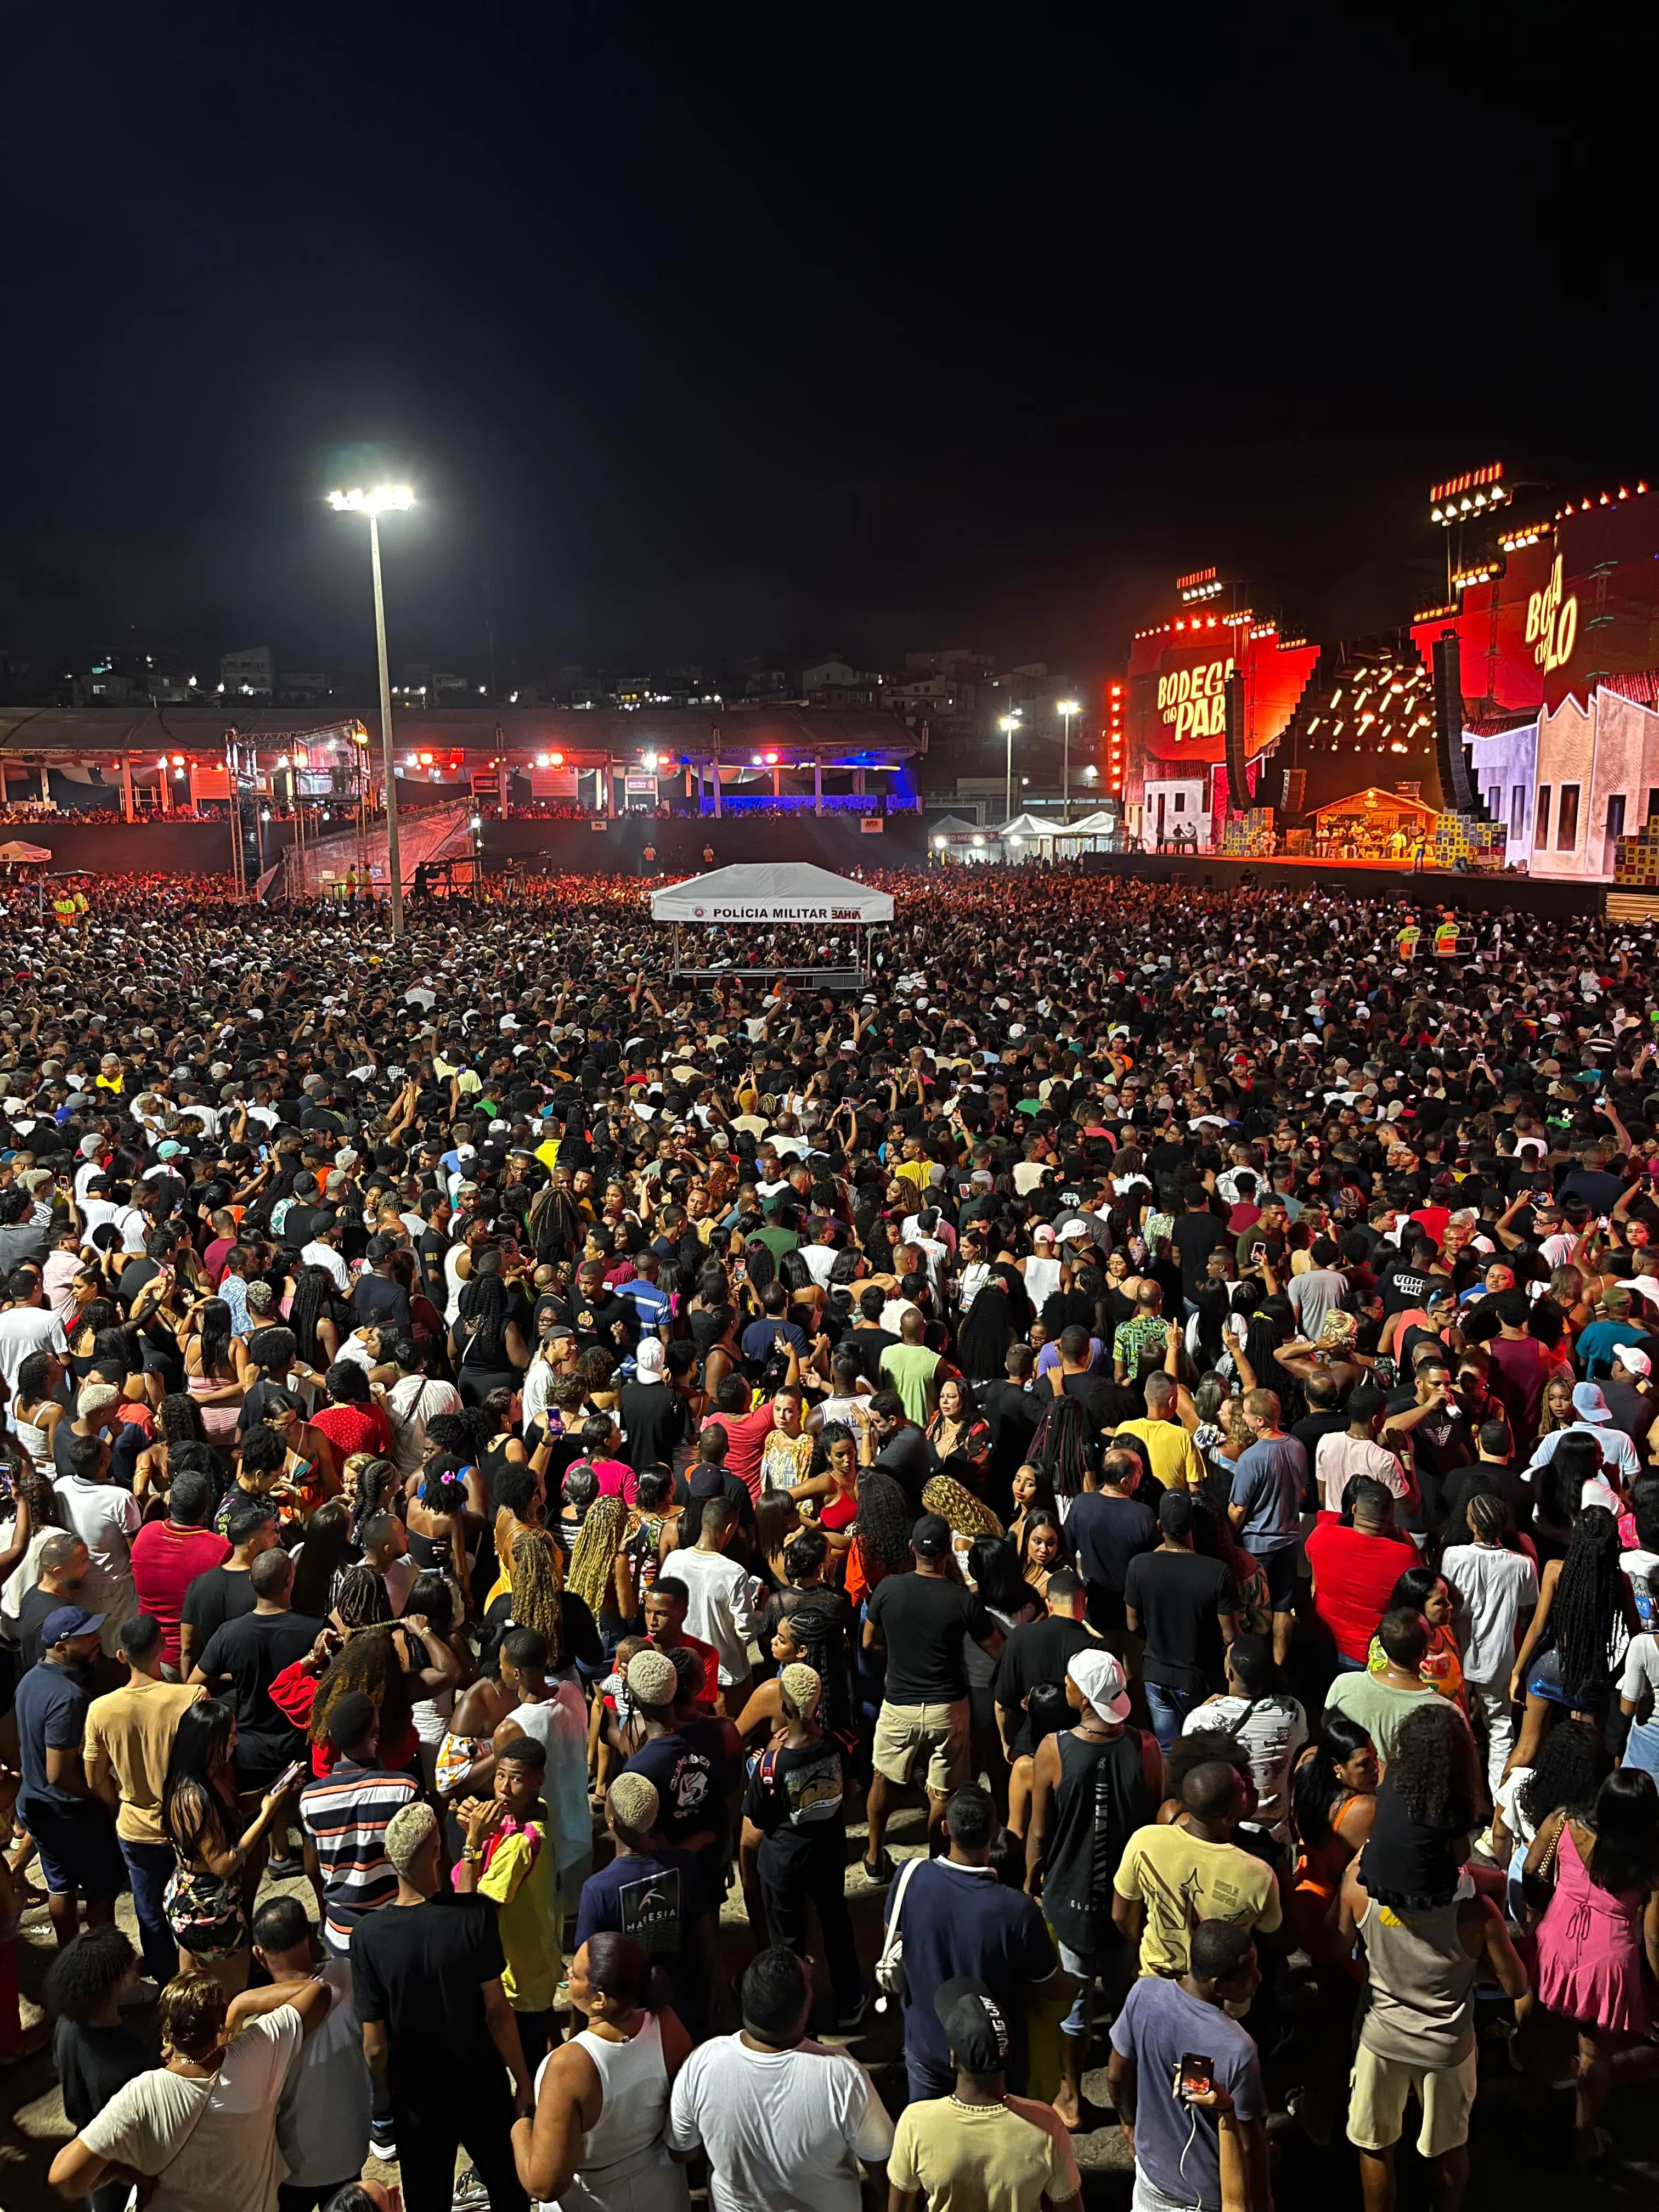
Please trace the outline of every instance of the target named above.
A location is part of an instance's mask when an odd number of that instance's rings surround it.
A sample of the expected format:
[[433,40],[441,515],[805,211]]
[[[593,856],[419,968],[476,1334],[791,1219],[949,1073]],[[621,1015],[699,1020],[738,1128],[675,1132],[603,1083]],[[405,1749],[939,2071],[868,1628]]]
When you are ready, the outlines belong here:
[[1137,2212],[1387,2212],[1407,2130],[1458,2212],[1511,2066],[1606,2152],[1652,931],[889,885],[838,1000],[624,880],[0,925],[64,2197],[1068,2212],[1110,2112]]

